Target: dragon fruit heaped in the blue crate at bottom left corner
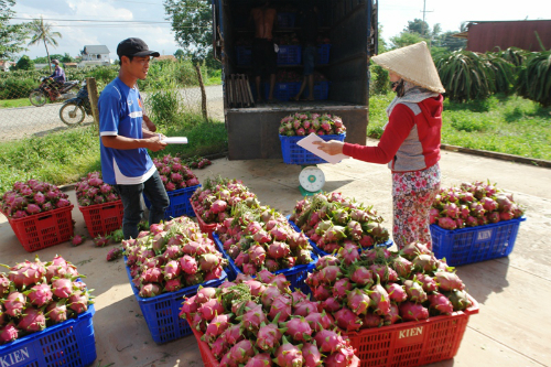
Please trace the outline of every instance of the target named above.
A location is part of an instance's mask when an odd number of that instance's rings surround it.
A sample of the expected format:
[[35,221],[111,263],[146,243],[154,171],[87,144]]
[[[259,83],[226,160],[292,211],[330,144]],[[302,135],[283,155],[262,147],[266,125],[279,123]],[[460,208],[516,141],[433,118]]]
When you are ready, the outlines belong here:
[[86,284],[61,256],[24,261],[0,272],[0,345],[41,332],[88,310]]

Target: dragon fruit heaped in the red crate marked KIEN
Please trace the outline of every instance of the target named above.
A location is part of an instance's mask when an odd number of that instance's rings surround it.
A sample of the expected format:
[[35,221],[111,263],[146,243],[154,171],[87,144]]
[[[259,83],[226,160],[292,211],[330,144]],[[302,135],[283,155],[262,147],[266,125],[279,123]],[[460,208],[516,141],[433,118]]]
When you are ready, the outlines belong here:
[[400,252],[346,246],[320,258],[306,284],[346,332],[450,315],[472,305],[465,285],[423,244]]

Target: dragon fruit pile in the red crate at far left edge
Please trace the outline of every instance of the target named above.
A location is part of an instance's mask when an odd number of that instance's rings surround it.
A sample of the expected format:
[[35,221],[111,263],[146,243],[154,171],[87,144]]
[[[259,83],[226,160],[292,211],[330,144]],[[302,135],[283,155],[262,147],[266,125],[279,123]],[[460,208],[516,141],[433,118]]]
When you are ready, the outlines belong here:
[[13,219],[69,206],[68,195],[56,185],[37,180],[15,182],[0,198],[0,208]]

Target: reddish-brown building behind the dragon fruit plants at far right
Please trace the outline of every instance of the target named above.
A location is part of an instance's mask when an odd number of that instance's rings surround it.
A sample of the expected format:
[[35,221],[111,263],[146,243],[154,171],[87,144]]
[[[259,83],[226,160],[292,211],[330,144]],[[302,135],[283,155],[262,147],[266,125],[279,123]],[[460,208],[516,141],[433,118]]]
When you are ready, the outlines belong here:
[[467,50],[480,53],[509,47],[542,51],[538,37],[543,47],[550,50],[551,20],[471,21],[466,32],[454,36],[467,39]]

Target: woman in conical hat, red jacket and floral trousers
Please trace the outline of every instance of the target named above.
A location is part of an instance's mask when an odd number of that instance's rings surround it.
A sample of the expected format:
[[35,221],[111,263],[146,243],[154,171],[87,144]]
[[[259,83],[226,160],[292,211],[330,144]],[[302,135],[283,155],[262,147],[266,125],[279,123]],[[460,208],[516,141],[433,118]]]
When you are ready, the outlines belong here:
[[444,87],[426,43],[374,56],[389,71],[396,98],[387,107],[388,123],[377,147],[339,141],[318,149],[370,162],[392,171],[392,237],[399,248],[420,241],[432,247],[429,211],[440,190],[440,136]]

